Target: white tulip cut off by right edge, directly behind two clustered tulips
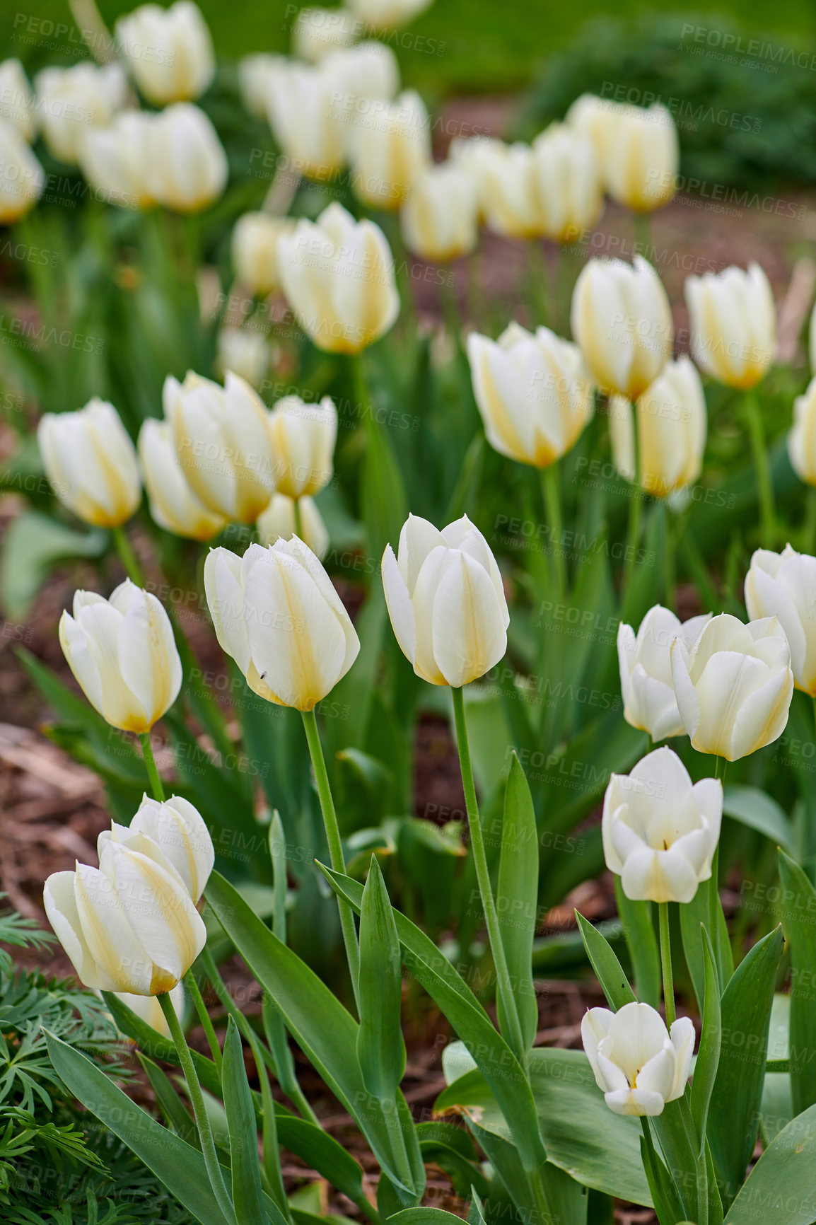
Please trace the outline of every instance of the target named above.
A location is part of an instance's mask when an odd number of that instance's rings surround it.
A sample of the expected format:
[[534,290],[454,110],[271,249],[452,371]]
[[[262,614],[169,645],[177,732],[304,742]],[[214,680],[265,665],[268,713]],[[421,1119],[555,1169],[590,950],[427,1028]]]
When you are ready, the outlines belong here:
[[776,616],[790,647],[796,688],[816,697],[816,557],[785,545],[782,552],[757,549],[745,576],[751,620]]

